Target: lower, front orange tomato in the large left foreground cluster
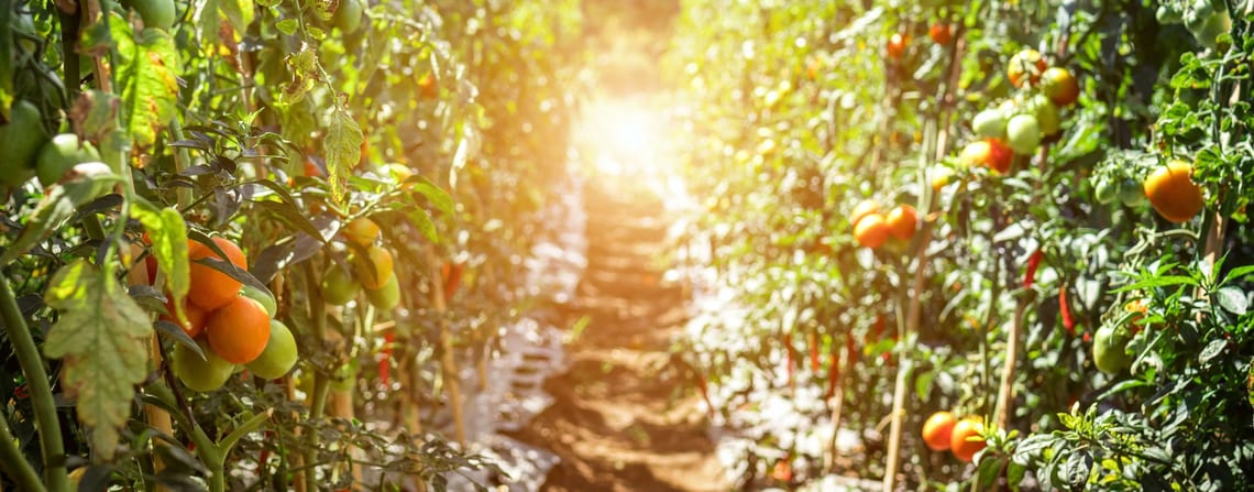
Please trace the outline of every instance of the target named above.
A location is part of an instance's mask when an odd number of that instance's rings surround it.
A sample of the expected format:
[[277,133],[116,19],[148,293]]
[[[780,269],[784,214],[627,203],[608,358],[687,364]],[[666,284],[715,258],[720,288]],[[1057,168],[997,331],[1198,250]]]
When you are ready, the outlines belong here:
[[270,314],[261,302],[237,295],[209,315],[204,334],[223,360],[247,364],[270,343]]

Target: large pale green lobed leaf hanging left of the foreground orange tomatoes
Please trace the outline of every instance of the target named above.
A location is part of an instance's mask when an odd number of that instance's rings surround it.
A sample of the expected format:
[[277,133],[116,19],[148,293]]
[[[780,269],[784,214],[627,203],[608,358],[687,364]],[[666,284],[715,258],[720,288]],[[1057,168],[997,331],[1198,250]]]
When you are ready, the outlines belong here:
[[113,276],[85,260],[59,270],[44,300],[60,313],[44,354],[64,359],[65,393],[76,398],[79,420],[93,429],[93,448],[112,459],[134,385],[148,375],[152,321]]

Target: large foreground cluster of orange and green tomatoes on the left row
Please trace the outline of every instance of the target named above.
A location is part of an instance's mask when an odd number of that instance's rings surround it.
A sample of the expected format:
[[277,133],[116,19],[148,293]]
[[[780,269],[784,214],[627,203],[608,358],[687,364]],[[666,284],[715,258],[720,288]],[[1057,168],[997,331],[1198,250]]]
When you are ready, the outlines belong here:
[[247,368],[252,374],[275,379],[296,365],[296,338],[275,316],[270,292],[236,280],[196,260],[227,261],[247,269],[248,261],[234,242],[214,237],[208,245],[188,241],[191,289],[182,319],[172,301],[162,319],[174,323],[196,340],[199,351],[179,344],[171,358],[171,370],[188,388],[211,392],[226,384],[231,374]]

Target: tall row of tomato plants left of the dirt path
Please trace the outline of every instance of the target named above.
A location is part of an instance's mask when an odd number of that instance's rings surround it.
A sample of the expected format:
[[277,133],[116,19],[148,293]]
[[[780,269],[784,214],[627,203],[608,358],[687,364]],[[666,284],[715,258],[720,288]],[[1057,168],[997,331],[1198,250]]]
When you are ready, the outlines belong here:
[[538,466],[495,433],[527,418],[502,394],[523,351],[559,355],[519,314],[587,247],[554,200],[581,23],[0,1],[0,487],[482,489]]

